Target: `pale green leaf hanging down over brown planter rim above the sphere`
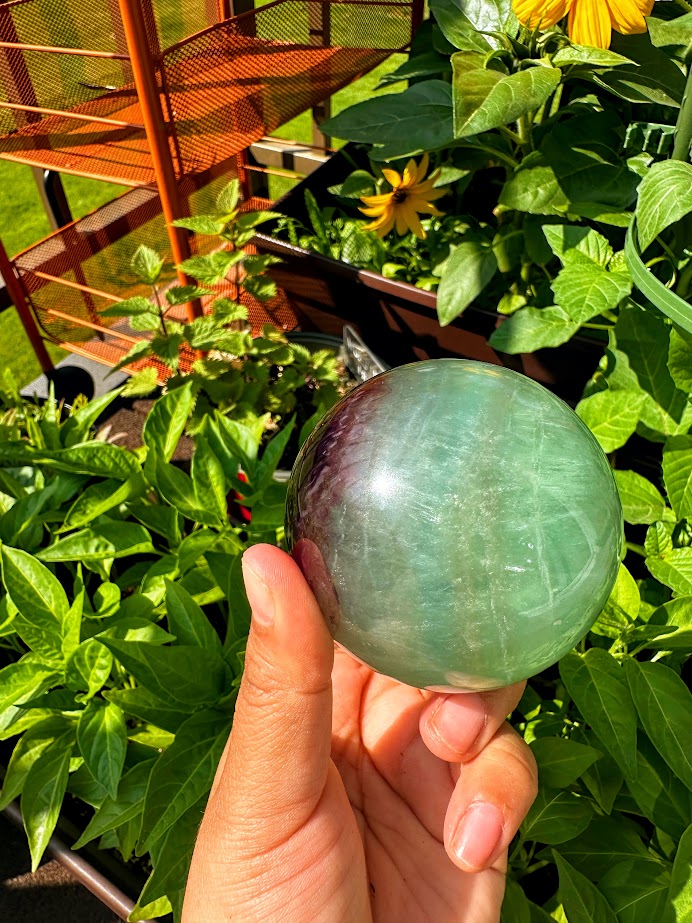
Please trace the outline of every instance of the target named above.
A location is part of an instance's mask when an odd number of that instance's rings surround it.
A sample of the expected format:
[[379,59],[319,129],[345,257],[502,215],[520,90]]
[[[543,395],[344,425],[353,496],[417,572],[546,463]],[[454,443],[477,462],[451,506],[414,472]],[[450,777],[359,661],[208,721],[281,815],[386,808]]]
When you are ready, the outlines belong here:
[[480,295],[497,272],[492,249],[481,241],[462,241],[454,250],[437,292],[437,316],[445,327]]

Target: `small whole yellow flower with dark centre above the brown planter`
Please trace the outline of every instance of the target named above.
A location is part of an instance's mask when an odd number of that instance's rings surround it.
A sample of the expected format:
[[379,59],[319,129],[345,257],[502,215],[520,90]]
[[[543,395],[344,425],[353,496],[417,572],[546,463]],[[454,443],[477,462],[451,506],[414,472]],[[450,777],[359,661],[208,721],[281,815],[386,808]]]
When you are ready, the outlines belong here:
[[438,218],[443,215],[444,212],[438,211],[432,203],[447,192],[447,187],[433,188],[440,175],[439,170],[425,179],[429,163],[430,158],[424,154],[418,165],[415,160],[409,160],[403,176],[396,170],[382,170],[392,191],[361,196],[361,202],[366,207],[360,210],[368,218],[376,219],[365,225],[366,231],[375,231],[378,237],[384,237],[392,228],[396,228],[397,234],[413,231],[416,237],[425,240],[425,231],[418,215],[435,215]]

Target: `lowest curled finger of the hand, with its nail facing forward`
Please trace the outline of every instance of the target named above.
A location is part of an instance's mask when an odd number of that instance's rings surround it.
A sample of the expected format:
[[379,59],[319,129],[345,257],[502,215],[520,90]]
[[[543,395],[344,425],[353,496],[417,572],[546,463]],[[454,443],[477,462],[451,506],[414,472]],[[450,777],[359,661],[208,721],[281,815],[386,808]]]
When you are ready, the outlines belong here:
[[459,767],[444,830],[452,862],[465,872],[504,862],[537,790],[533,755],[504,724],[474,760]]

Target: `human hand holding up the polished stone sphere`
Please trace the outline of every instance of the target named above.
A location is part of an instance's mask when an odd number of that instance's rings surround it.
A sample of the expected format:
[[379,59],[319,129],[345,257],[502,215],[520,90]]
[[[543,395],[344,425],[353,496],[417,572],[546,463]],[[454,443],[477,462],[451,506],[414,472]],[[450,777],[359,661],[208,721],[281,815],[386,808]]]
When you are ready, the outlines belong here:
[[253,611],[183,923],[498,923],[536,794],[523,684],[441,695],[334,643],[297,564],[243,557]]

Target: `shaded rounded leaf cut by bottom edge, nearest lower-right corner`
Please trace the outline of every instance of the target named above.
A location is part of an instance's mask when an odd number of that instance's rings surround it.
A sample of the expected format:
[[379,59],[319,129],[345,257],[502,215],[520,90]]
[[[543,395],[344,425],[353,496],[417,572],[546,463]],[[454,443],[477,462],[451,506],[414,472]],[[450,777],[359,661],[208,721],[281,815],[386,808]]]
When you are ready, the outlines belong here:
[[598,882],[620,923],[663,920],[669,886],[666,866],[643,856],[612,865]]

